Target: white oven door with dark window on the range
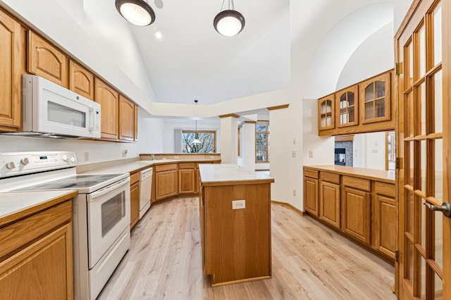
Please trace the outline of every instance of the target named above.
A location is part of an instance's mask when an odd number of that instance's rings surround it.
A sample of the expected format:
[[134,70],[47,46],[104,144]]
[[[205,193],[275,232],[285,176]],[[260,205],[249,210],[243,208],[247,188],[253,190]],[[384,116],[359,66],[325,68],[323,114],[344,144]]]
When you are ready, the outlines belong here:
[[130,177],[87,194],[89,269],[130,227]]

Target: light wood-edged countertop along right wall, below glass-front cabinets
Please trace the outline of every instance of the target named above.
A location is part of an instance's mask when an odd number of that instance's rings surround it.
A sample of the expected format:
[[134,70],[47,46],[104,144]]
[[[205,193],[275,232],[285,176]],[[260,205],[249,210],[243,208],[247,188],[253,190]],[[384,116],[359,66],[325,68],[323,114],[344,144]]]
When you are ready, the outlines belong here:
[[345,165],[304,165],[304,169],[326,171],[329,173],[350,175],[381,182],[395,183],[395,171],[373,170],[347,167]]

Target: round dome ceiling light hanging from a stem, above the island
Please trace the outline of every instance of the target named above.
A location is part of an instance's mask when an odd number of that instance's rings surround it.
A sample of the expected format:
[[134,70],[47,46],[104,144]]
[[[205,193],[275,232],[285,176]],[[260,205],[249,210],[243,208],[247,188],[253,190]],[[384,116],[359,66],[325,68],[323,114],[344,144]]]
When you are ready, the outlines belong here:
[[[228,1],[228,9],[223,11],[224,1]],[[223,0],[221,6],[221,13],[214,17],[214,29],[221,35],[226,37],[233,37],[242,31],[245,27],[245,17],[238,11],[235,11],[235,4],[233,0]]]

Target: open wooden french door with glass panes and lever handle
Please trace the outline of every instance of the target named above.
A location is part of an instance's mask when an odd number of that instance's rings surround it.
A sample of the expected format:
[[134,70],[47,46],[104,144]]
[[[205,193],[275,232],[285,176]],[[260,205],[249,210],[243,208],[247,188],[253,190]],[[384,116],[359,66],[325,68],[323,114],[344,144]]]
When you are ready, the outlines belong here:
[[451,0],[413,2],[395,37],[398,296],[451,299]]

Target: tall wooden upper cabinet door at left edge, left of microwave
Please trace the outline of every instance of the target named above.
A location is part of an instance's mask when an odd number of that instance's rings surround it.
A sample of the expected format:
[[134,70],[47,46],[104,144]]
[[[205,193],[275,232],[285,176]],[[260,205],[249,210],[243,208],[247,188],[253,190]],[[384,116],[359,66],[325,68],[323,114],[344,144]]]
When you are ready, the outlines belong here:
[[0,131],[19,131],[25,40],[20,24],[3,11],[0,11],[0,40]]

